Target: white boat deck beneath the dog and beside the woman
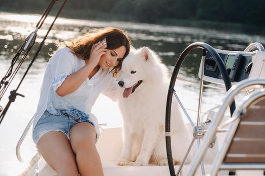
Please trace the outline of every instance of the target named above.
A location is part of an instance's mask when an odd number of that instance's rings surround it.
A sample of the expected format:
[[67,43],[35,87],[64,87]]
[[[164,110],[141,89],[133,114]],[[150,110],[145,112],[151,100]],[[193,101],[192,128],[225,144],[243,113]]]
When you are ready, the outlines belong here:
[[[116,160],[119,158],[123,145],[122,128],[107,128],[101,131],[100,138],[96,144],[101,162],[103,165],[103,171],[105,176],[165,176],[170,175],[168,165],[148,165],[148,166],[134,166],[133,162],[129,165],[119,166],[116,164]],[[204,164],[205,173],[209,173],[211,165]],[[175,172],[178,171],[179,165],[175,165]],[[190,168],[189,164],[185,164],[179,175],[186,175]],[[38,171],[37,171],[38,170]],[[36,171],[39,172],[39,176],[53,176],[57,175],[43,158],[40,158],[39,162],[34,166],[29,167],[27,174],[21,175],[36,175]],[[250,172],[249,172],[250,171]],[[240,171],[237,170],[237,175],[263,175],[262,170],[249,170]],[[197,170],[196,175],[202,175],[200,168]],[[219,175],[228,175],[228,170],[219,171]]]

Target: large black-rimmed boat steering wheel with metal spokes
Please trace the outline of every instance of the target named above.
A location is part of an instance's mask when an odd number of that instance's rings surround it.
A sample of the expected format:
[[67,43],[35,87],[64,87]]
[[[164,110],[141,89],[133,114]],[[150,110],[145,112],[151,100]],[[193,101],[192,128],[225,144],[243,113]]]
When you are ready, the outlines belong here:
[[[184,107],[182,106],[182,104],[180,103],[180,100],[177,96],[177,93],[174,89],[175,87],[175,82],[180,70],[180,67],[184,61],[184,59],[186,58],[186,56],[193,50],[196,48],[200,48],[202,49],[202,59],[201,59],[201,76],[200,76],[200,92],[199,92],[199,103],[198,103],[198,113],[197,113],[197,123],[193,124],[192,120],[190,119],[190,117],[188,116],[187,112],[185,111]],[[220,55],[218,54],[218,52],[211,47],[210,45],[203,43],[203,42],[195,42],[190,44],[180,55],[180,57],[177,60],[177,63],[175,65],[174,71],[172,73],[172,77],[171,77],[171,81],[170,81],[170,85],[169,85],[169,91],[168,91],[168,97],[167,97],[167,106],[166,106],[166,148],[167,148],[167,156],[168,156],[168,164],[169,164],[169,169],[170,169],[170,174],[171,176],[175,176],[178,175],[183,167],[183,164],[185,163],[185,160],[191,150],[191,147],[195,141],[195,139],[197,139],[197,143],[198,145],[200,145],[200,139],[203,136],[202,133],[202,128],[200,126],[200,113],[201,113],[201,99],[202,99],[202,89],[203,89],[203,73],[204,73],[204,63],[205,63],[205,56],[206,56],[206,52],[208,52],[210,54],[211,57],[213,57],[214,61],[216,62],[220,73],[222,74],[224,83],[225,83],[225,87],[226,87],[226,91],[228,91],[230,89],[231,85],[231,80],[229,77],[229,74],[226,70],[226,67],[224,65],[224,62],[222,60],[222,58],[220,57]],[[183,109],[185,115],[187,116],[190,124],[193,127],[193,140],[191,141],[191,144],[189,146],[189,148],[187,149],[187,152],[185,154],[185,157],[178,169],[177,174],[175,173],[175,169],[174,169],[174,163],[173,163],[173,157],[172,157],[172,150],[171,150],[171,134],[170,134],[170,120],[171,120],[171,105],[172,105],[172,97],[173,95],[175,96],[175,98],[177,99],[177,101],[179,102],[181,108]],[[173,107],[174,108],[174,107]],[[230,113],[233,114],[235,110],[235,103],[233,103],[230,106]],[[202,174],[204,175],[204,164],[203,161],[200,162],[201,165],[201,171]]]

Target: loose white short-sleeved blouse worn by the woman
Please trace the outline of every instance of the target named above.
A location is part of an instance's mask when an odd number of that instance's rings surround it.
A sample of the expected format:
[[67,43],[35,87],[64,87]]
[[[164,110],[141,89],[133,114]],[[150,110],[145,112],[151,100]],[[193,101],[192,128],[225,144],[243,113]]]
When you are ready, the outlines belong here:
[[[48,61],[44,78],[40,89],[40,99],[37,111],[34,114],[33,130],[41,115],[47,110],[51,114],[58,114],[61,110],[72,110],[89,115],[89,120],[95,125],[97,135],[99,126],[96,117],[91,113],[98,95],[102,92],[105,96],[116,101],[118,83],[113,78],[110,70],[99,70],[78,87],[76,91],[64,97],[57,95],[56,90],[61,86],[65,78],[77,72],[85,65],[85,61],[74,53],[70,48],[59,49]],[[97,136],[98,137],[98,136]]]

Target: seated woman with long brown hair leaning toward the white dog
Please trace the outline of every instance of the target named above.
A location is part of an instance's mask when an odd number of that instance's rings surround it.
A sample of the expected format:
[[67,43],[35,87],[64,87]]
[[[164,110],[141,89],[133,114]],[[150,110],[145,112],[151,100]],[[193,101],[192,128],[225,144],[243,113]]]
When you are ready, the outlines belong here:
[[[107,40],[107,44],[102,42]],[[103,175],[91,108],[102,92],[115,100],[114,77],[130,41],[118,28],[97,29],[62,42],[50,58],[33,122],[33,141],[59,175]]]

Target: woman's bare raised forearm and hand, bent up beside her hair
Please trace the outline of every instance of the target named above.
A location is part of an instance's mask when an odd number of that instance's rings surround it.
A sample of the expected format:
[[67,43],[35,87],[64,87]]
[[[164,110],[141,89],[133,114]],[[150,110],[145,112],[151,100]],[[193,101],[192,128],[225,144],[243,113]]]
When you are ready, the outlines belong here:
[[80,68],[77,72],[67,76],[61,86],[56,90],[56,93],[59,96],[64,97],[76,91],[89,76],[92,70],[97,66],[100,57],[105,54],[106,51],[107,49],[105,49],[105,44],[94,44],[91,48],[90,56],[86,65]]

